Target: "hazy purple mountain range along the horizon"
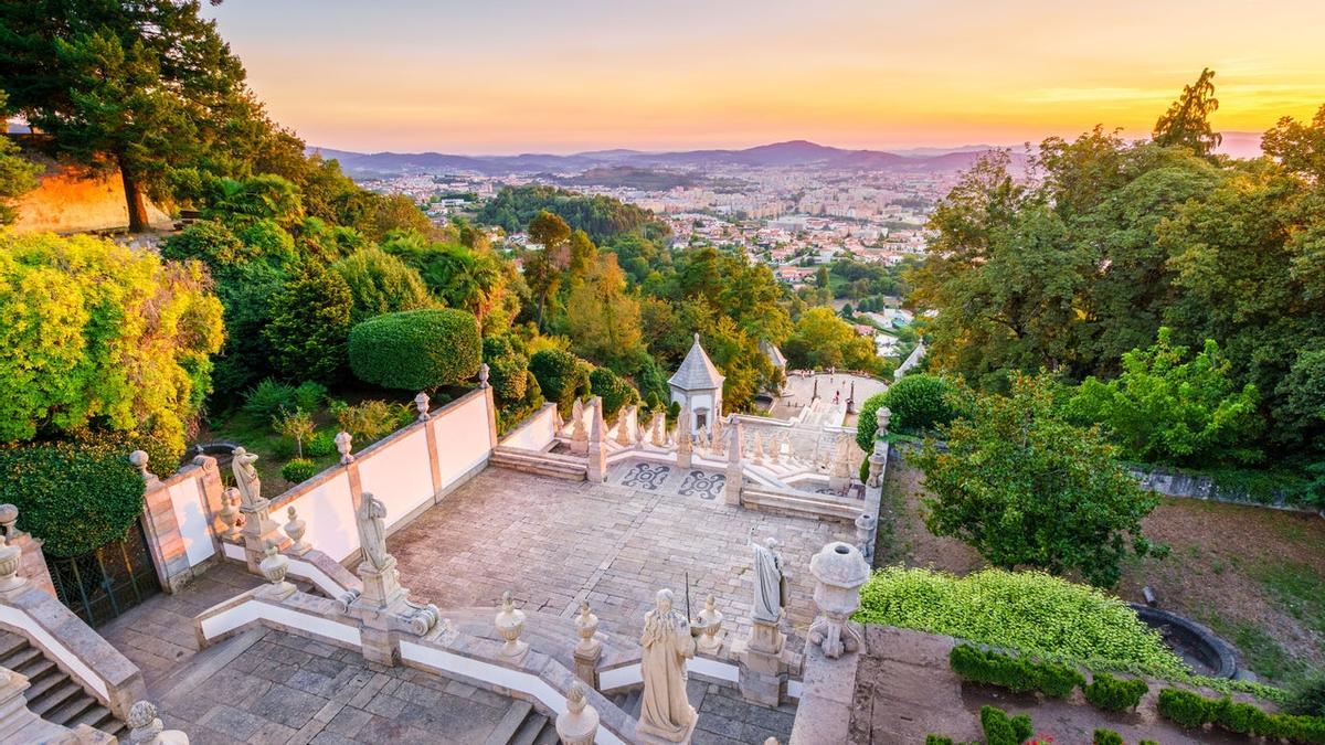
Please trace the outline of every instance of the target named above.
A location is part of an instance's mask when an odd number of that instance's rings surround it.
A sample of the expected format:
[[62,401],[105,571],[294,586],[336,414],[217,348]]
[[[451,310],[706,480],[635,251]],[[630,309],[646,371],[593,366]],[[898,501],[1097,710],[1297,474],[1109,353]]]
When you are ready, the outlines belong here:
[[[860,171],[949,171],[970,167],[984,146],[958,150],[934,148],[925,155],[901,155],[881,150],[844,150],[795,139],[747,147],[745,150],[685,150],[676,152],[644,152],[640,150],[598,150],[574,155],[447,155],[443,152],[351,152],[326,147],[310,147],[325,158],[335,158],[352,175],[387,175],[407,172],[460,172],[484,175],[509,174],[580,174],[602,167],[673,167],[713,168],[721,166],[746,167],[806,167]],[[1014,154],[1014,159],[1020,155]]]

